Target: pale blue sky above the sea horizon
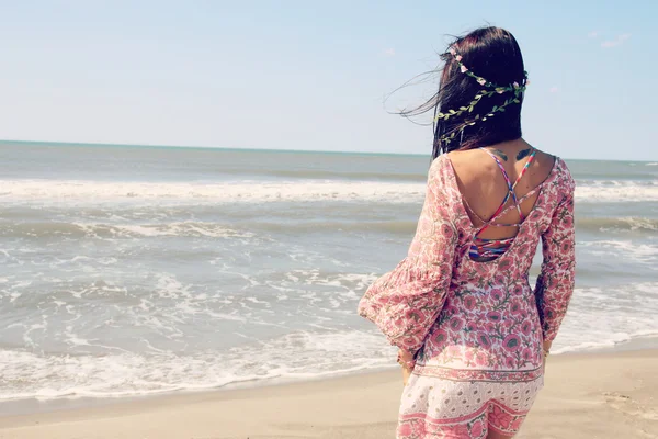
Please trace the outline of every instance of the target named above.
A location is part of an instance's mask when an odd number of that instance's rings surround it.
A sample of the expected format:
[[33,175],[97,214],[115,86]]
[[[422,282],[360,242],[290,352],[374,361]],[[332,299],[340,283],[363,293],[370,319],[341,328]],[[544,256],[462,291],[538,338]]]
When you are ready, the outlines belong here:
[[514,34],[524,138],[657,160],[658,2],[0,0],[0,139],[430,154],[450,35]]

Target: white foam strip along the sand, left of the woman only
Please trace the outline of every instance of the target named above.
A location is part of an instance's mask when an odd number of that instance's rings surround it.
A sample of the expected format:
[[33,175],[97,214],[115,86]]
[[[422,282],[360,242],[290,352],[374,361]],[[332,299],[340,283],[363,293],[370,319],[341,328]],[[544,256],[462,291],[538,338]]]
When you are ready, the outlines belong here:
[[378,335],[299,331],[224,352],[104,356],[0,349],[1,399],[128,396],[222,387],[246,381],[308,379],[393,364]]

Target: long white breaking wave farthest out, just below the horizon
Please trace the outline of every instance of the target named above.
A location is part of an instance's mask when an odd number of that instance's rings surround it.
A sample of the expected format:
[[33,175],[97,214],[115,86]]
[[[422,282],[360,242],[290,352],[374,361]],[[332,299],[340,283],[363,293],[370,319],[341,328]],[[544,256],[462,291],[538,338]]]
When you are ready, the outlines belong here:
[[[0,181],[0,200],[9,202],[104,203],[264,203],[362,201],[421,203],[424,183],[376,181],[287,181],[287,182],[101,182],[101,181]],[[658,180],[593,181],[579,184],[576,198],[582,202],[658,201]]]

